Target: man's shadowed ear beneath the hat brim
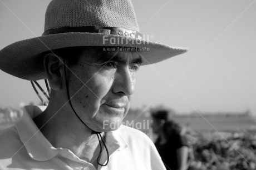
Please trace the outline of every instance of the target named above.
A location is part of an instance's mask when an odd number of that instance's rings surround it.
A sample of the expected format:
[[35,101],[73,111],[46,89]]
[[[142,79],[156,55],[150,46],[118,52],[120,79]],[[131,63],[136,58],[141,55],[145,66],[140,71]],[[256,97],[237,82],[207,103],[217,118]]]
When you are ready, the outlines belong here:
[[48,53],[43,59],[43,64],[51,89],[61,89],[64,66],[62,58],[57,57],[53,53]]

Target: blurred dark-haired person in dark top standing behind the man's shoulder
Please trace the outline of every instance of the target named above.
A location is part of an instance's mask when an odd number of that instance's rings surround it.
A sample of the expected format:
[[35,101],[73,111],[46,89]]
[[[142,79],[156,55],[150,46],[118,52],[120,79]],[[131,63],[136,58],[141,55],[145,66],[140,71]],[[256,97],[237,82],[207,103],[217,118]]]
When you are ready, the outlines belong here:
[[167,110],[152,112],[151,117],[152,132],[158,136],[155,146],[166,169],[188,169],[189,145],[179,124],[169,119]]

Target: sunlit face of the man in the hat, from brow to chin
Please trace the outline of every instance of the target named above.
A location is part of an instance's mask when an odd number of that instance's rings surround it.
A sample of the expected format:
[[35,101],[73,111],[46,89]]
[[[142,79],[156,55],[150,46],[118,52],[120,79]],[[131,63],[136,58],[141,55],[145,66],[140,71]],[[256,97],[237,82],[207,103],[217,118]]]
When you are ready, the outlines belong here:
[[[85,52],[69,73],[68,86],[78,116],[97,132],[120,127],[130,107],[135,74],[141,64],[136,51]],[[79,77],[79,78],[77,78]],[[80,80],[81,79],[81,80]],[[82,81],[82,82],[81,82]]]

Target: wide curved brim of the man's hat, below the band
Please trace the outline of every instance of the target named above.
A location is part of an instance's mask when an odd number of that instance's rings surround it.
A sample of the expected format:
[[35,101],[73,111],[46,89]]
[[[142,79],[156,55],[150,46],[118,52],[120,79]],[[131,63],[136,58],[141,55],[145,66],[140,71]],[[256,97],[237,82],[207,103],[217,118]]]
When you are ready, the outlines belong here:
[[[109,40],[111,38],[112,40],[113,38],[122,38],[125,43],[121,43],[121,41],[119,43],[103,41],[104,36],[107,36],[106,38]],[[61,33],[25,39],[3,48],[0,51],[0,68],[6,73],[29,81],[45,79],[46,74],[43,68],[43,58],[40,58],[40,54],[53,49],[76,46],[124,46],[141,48],[138,52],[142,57],[142,65],[157,63],[187,51],[186,48],[170,47],[165,44],[140,39],[133,39],[131,41],[131,38],[112,34]]]

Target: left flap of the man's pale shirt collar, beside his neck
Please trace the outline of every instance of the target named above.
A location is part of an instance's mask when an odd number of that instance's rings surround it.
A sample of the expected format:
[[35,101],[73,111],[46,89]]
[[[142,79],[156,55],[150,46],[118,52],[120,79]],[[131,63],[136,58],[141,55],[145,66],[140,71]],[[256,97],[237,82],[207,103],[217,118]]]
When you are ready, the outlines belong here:
[[37,161],[47,161],[60,152],[52,146],[33,122],[33,118],[45,109],[46,106],[25,106],[22,118],[16,123],[19,138],[21,138],[29,156]]

